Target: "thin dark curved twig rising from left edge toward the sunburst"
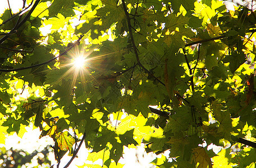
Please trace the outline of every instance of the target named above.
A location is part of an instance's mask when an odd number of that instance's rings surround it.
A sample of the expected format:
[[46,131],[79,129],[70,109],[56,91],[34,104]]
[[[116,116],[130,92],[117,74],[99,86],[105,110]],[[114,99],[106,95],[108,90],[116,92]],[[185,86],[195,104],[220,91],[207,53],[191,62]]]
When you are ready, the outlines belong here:
[[69,52],[72,48],[74,48],[74,46],[76,46],[77,43],[79,43],[79,41],[83,38],[84,35],[81,35],[79,37],[79,39],[70,46],[70,48],[68,48],[67,50],[65,50],[65,52],[61,53],[60,55],[50,59],[50,60],[47,60],[46,62],[43,62],[43,63],[40,63],[40,64],[35,64],[33,66],[29,66],[29,67],[22,67],[22,68],[13,68],[13,69],[0,69],[0,72],[12,72],[12,71],[21,71],[21,70],[25,70],[25,69],[30,69],[30,68],[34,68],[34,67],[39,67],[39,66],[43,66],[45,64],[48,64],[50,62],[52,62],[53,60],[61,57],[62,55],[65,55],[67,54],[67,52]]

